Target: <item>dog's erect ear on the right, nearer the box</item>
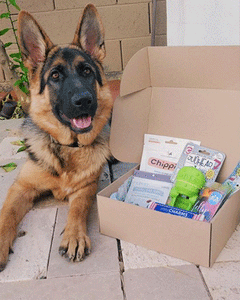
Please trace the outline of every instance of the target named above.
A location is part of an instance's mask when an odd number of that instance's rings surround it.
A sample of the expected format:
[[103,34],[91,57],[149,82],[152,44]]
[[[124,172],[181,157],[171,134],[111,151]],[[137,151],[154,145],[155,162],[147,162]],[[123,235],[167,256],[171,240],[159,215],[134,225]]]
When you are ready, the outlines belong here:
[[101,18],[94,5],[85,7],[77,26],[72,42],[100,62],[106,56],[104,45],[104,28]]

